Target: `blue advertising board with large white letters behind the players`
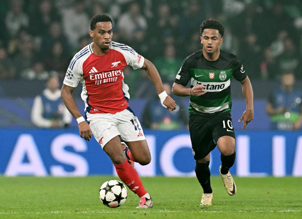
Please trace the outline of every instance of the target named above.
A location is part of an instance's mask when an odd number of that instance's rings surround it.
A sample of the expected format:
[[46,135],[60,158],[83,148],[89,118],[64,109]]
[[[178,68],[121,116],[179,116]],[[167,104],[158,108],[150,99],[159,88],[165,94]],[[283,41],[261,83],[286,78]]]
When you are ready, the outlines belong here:
[[[115,175],[97,141],[85,141],[78,130],[0,129],[0,174],[5,176]],[[145,135],[152,161],[135,163],[141,176],[194,176],[188,131],[149,131]],[[220,153],[211,152],[212,175],[219,174]],[[301,132],[236,131],[237,176],[302,176]]]

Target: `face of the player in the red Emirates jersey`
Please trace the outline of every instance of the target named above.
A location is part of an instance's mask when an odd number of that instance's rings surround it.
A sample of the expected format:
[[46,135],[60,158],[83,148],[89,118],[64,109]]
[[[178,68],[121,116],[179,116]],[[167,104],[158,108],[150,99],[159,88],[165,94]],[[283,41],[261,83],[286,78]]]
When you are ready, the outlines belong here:
[[112,39],[111,22],[98,22],[94,30],[90,30],[94,46],[98,46],[103,52],[107,52]]

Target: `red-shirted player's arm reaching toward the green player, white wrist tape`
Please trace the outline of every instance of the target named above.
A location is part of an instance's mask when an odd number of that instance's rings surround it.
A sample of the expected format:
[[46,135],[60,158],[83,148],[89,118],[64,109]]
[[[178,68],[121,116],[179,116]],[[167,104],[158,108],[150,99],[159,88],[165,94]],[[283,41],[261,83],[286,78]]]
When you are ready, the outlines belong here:
[[[150,81],[152,81],[152,83],[154,84],[157,93],[162,94],[165,89],[162,85],[162,79],[160,78],[159,73],[153,63],[150,62],[148,59],[145,59],[142,69],[146,71],[146,74],[148,75]],[[165,105],[167,109],[169,109],[169,111],[173,111],[174,109],[176,109],[176,103],[175,100],[172,99],[172,97],[170,97],[169,95],[164,95],[162,97],[161,96],[160,99],[162,105]]]

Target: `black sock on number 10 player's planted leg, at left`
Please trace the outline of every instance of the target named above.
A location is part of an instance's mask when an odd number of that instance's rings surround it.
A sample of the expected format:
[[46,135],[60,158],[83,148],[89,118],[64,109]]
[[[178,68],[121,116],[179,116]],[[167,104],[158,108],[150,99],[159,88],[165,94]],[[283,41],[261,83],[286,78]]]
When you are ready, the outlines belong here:
[[209,168],[210,161],[206,163],[197,163],[195,166],[195,173],[198,179],[198,182],[200,183],[202,189],[204,190],[204,193],[212,193],[211,188],[211,181],[210,181],[210,168]]

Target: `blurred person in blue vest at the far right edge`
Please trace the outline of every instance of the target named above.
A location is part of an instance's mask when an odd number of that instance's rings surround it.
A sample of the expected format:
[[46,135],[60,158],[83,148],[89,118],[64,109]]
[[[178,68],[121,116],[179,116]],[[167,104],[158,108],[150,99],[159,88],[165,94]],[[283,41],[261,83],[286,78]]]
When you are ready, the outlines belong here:
[[276,130],[299,130],[302,124],[302,90],[295,87],[291,71],[281,75],[280,87],[272,92],[266,104],[266,113],[271,119],[271,128]]

